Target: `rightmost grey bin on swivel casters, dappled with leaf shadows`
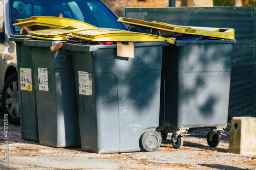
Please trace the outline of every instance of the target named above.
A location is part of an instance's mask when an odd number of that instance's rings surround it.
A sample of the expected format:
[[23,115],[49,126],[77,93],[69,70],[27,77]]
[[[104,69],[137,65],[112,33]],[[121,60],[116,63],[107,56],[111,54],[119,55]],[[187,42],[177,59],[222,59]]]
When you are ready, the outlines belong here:
[[159,129],[174,130],[175,148],[187,130],[211,128],[217,147],[227,126],[233,43],[236,40],[177,40],[163,48]]

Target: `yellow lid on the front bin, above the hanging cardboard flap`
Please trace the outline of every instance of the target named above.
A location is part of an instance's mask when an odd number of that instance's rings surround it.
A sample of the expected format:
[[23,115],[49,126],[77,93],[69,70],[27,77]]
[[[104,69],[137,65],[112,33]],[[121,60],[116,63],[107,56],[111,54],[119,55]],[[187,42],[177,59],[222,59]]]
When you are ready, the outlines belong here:
[[90,41],[115,41],[115,42],[153,42],[167,41],[174,43],[173,40],[151,34],[136,33],[131,31],[123,31],[107,28],[91,28],[83,30],[71,30],[68,36],[86,39]]

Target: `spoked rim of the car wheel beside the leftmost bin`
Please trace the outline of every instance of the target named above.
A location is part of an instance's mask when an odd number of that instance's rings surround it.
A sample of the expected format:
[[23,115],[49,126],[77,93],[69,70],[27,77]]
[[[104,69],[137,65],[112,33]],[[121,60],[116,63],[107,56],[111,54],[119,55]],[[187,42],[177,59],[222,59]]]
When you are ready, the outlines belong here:
[[12,82],[5,95],[6,108],[13,118],[19,118],[19,104],[18,104],[18,82]]

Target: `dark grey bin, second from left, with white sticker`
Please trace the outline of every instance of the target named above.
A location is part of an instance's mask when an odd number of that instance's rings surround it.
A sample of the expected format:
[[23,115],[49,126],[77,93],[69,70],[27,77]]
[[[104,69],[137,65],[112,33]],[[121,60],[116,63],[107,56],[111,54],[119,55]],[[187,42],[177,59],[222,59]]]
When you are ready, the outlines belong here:
[[25,40],[32,50],[40,144],[80,145],[75,78],[70,53],[50,46],[59,41]]

